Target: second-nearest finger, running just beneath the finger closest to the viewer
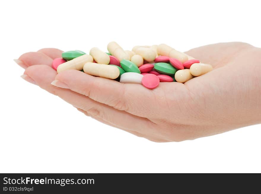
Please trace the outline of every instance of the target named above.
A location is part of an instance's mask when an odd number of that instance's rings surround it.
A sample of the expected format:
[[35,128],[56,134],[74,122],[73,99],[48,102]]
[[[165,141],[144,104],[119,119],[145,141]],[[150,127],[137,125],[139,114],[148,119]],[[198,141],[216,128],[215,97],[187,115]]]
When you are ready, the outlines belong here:
[[73,106],[85,110],[91,116],[101,118],[121,129],[138,132],[155,132],[155,127],[147,118],[131,115],[125,111],[114,109],[108,105],[96,102],[82,94],[69,89],[62,89],[51,85],[57,75],[56,71],[47,65],[34,65],[26,69],[25,73],[37,85],[48,92],[58,95]]

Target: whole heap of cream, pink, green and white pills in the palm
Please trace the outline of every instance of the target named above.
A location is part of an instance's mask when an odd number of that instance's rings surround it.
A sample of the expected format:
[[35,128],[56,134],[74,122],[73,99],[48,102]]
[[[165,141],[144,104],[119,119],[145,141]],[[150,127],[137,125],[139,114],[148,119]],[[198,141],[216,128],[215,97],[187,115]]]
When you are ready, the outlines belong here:
[[184,83],[213,69],[166,44],[135,46],[129,51],[110,42],[107,49],[109,52],[94,47],[90,54],[79,50],[63,52],[62,58],[53,60],[52,67],[58,73],[75,69],[121,83],[142,84],[149,89],[160,82]]

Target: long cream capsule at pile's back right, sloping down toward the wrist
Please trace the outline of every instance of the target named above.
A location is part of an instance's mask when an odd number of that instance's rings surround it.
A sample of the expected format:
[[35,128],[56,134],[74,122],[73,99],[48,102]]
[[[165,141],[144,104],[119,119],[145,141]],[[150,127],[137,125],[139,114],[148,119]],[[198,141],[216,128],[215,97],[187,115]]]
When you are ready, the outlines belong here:
[[159,55],[168,56],[170,58],[175,58],[181,61],[182,63],[188,60],[188,57],[183,52],[179,52],[166,44],[160,44],[157,48],[157,52]]

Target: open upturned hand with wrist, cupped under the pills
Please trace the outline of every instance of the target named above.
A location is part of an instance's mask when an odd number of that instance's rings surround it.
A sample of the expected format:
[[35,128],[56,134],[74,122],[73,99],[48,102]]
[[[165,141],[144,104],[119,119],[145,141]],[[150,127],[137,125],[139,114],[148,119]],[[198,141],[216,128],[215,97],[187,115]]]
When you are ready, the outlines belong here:
[[[68,70],[57,74],[52,60],[63,51],[28,52],[17,63],[25,80],[58,95],[86,116],[155,142],[193,140],[261,123],[261,49],[218,43],[186,52],[214,70],[156,89]],[[55,85],[52,85],[52,81]]]

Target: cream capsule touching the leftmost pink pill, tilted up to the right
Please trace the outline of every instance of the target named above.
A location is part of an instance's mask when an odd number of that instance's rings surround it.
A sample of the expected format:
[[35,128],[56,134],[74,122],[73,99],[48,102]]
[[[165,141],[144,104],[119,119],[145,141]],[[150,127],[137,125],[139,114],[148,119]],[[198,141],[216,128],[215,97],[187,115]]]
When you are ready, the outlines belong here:
[[57,68],[57,73],[61,73],[62,71],[68,69],[82,70],[84,64],[87,62],[93,62],[93,57],[89,54],[84,54],[59,65]]

